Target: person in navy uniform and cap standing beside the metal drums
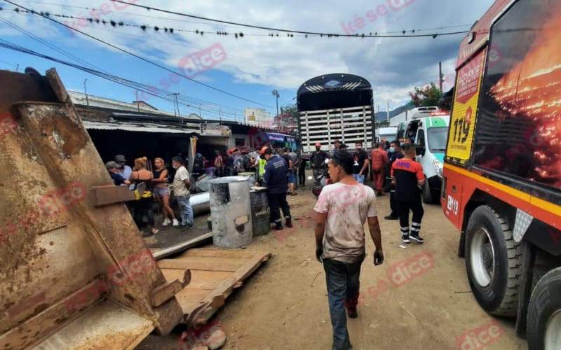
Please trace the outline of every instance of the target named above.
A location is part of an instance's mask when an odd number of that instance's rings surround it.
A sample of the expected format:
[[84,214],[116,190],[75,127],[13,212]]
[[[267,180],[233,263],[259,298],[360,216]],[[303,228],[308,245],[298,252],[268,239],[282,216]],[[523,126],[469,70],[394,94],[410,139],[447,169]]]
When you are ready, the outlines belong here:
[[267,200],[269,200],[269,209],[271,209],[271,219],[275,223],[273,229],[283,230],[280,209],[283,209],[286,227],[292,228],[290,207],[286,201],[288,165],[283,158],[273,155],[273,150],[268,147],[263,151],[262,157],[267,162],[263,173],[263,182],[267,188]]

